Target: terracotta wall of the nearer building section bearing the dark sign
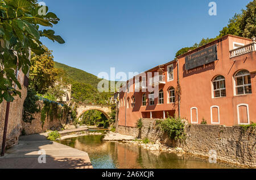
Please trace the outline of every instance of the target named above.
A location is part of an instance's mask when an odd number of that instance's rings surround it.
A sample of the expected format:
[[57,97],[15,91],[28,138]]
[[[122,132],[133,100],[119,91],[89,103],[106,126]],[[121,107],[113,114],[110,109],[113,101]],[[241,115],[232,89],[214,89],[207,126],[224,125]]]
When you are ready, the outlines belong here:
[[[199,68],[196,71],[185,71],[185,57],[180,58],[180,84],[182,88],[181,95],[181,116],[188,119],[191,123],[191,108],[197,107],[198,122],[204,118],[207,124],[210,122],[210,107],[219,106],[220,124],[234,125],[238,124],[237,120],[237,105],[241,103],[249,104],[250,121],[256,119],[256,78],[255,73],[251,73],[252,94],[234,95],[233,76],[238,70],[246,69],[249,72],[256,71],[256,52],[246,55],[229,58],[229,45],[233,41],[238,43],[244,42],[235,37],[227,37],[220,43],[217,43],[218,60],[209,64],[205,68]],[[236,60],[234,62],[234,60]],[[217,76],[225,77],[226,82],[226,97],[212,98],[212,80]]]

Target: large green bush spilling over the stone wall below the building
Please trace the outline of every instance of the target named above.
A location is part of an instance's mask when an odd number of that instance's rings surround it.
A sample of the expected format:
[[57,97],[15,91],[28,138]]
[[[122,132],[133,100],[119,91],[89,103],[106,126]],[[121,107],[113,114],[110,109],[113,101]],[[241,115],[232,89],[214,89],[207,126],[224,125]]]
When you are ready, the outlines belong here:
[[166,132],[170,139],[181,140],[185,139],[185,124],[180,118],[168,117],[160,122],[159,127]]

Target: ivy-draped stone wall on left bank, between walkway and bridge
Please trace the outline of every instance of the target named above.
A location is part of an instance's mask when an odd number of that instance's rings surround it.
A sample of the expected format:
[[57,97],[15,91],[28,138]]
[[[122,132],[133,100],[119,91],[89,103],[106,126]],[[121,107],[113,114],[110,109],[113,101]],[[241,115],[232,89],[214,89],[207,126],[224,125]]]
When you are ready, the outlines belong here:
[[[43,106],[42,101],[39,102],[39,106]],[[38,112],[33,115],[33,118],[35,119],[33,119],[31,123],[25,123],[22,121],[22,129],[24,129],[23,131],[26,135],[42,133],[47,130],[59,130],[61,127],[65,126],[65,123],[67,122],[67,115],[68,114],[64,114],[61,119],[54,117],[52,120],[49,116],[46,116],[46,120],[43,124],[41,121],[41,112]]]

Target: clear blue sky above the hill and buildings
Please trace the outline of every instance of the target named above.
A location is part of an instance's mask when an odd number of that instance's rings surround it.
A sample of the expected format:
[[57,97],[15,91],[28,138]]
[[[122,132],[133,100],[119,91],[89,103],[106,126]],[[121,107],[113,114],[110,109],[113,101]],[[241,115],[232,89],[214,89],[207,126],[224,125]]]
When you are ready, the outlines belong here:
[[[173,60],[203,37],[215,37],[250,0],[44,0],[60,22],[53,27],[65,44],[42,39],[55,61],[100,72],[143,72]],[[39,1],[40,2],[40,1]]]

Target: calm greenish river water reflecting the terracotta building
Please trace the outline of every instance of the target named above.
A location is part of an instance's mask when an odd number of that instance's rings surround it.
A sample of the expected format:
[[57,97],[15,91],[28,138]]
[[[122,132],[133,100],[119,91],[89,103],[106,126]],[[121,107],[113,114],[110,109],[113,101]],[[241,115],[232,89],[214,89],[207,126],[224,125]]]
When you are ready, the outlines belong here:
[[[90,129],[89,131],[104,132]],[[188,154],[150,151],[139,145],[102,141],[104,135],[73,137],[58,141],[61,144],[83,150],[89,154],[94,169],[196,169],[196,168],[241,168],[217,162],[210,164],[208,160]]]

